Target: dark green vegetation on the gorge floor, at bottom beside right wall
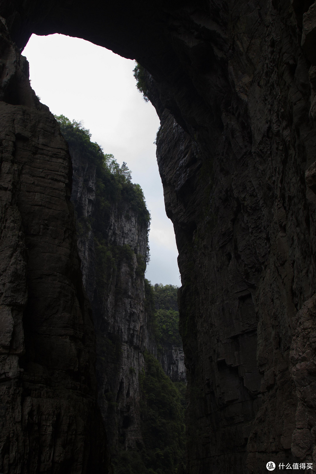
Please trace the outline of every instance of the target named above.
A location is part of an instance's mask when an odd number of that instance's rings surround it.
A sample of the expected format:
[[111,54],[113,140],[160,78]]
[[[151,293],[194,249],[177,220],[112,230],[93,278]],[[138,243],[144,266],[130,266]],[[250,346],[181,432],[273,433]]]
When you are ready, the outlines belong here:
[[157,359],[144,353],[141,432],[144,447],[114,456],[114,474],[177,474],[185,458],[184,384],[174,384]]

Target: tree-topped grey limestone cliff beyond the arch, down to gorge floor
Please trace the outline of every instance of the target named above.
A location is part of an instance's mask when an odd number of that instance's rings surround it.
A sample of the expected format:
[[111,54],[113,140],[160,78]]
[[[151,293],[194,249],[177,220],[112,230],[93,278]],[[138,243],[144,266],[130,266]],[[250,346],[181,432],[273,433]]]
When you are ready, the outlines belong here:
[[[58,120],[72,157],[78,250],[97,337],[98,401],[114,472],[163,468],[172,474],[183,458],[185,385],[174,386],[154,357],[159,321],[152,286],[144,279],[149,228],[144,196],[126,164],[119,167],[112,155],[104,155],[88,130],[63,116]],[[176,292],[174,287],[175,298]],[[172,380],[185,380],[183,350],[159,346],[163,349],[177,354],[177,366],[174,360],[166,366]]]

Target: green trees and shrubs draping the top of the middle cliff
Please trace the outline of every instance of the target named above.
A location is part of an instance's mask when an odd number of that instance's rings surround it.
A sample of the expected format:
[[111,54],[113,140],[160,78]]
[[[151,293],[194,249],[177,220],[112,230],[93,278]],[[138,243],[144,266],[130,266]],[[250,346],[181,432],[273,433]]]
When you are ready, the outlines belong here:
[[[93,231],[95,248],[96,288],[99,298],[104,298],[110,283],[122,262],[126,262],[131,274],[135,267],[135,253],[127,244],[117,246],[108,242],[108,225],[111,215],[117,213],[121,219],[136,217],[137,223],[147,232],[150,214],[146,208],[144,194],[139,184],[131,182],[131,171],[123,162],[121,166],[114,156],[104,154],[102,148],[91,142],[90,131],[81,122],[69,120],[63,115],[55,116],[60,124],[72,155],[80,156],[80,162],[90,164],[95,169],[95,204],[93,213],[86,217],[80,209],[76,214],[76,229],[79,237],[84,238]],[[149,261],[149,247],[146,255],[136,255],[136,275],[144,275]],[[117,290],[118,291],[118,290]]]

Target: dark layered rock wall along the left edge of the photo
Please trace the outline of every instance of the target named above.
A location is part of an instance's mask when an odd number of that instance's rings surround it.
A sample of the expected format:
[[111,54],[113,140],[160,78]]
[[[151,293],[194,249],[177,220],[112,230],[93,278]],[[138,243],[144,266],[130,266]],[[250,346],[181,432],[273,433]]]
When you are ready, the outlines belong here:
[[0,471],[104,473],[68,148],[0,29]]

